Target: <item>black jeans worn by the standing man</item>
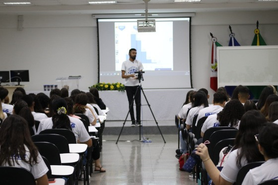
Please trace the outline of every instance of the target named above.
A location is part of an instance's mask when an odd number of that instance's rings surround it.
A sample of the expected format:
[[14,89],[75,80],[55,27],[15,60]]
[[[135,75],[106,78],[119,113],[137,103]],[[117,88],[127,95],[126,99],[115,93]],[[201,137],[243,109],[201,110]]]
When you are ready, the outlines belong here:
[[[138,89],[138,90],[137,90]],[[140,105],[140,100],[141,100],[141,91],[139,89],[139,85],[137,86],[126,86],[126,91],[128,95],[128,100],[129,100],[129,107],[130,107],[130,115],[131,115],[131,120],[135,121],[134,118],[134,109],[133,109],[133,99],[135,97],[135,104],[136,104],[136,120],[137,122],[140,122],[140,112],[141,112],[141,105]],[[136,93],[137,92],[137,93]]]

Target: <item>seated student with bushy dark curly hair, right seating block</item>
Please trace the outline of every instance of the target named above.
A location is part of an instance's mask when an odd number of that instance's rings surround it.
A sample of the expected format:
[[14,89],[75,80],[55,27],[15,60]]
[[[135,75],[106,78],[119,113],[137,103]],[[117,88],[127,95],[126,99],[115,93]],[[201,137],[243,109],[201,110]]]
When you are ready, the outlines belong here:
[[210,115],[204,122],[201,129],[201,136],[204,137],[204,133],[210,127],[217,126],[233,126],[238,127],[242,115],[244,114],[243,105],[239,100],[231,100],[218,114]]

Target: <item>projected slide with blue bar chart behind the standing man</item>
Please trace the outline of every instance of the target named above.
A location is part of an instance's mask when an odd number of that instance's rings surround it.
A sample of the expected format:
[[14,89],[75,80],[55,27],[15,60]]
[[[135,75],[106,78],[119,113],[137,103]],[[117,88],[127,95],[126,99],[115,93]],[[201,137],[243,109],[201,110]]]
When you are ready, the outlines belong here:
[[144,70],[173,70],[173,22],[156,22],[156,32],[139,33],[137,22],[115,22],[115,70],[137,50],[136,59]]

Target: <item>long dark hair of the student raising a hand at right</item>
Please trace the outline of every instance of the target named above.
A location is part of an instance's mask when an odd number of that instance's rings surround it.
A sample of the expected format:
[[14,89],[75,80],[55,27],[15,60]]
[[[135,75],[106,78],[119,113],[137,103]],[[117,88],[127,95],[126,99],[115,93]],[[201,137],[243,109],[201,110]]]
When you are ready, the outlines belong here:
[[266,123],[266,118],[259,111],[247,111],[242,116],[235,138],[235,149],[240,148],[237,156],[237,166],[239,168],[243,158],[246,158],[247,163],[264,161],[254,137],[254,135],[259,133],[264,123]]

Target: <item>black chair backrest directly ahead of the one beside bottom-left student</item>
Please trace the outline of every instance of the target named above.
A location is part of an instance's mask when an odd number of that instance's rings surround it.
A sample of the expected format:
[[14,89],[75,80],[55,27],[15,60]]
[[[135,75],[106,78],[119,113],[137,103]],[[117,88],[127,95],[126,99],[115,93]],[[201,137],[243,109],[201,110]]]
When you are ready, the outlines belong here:
[[50,142],[57,146],[59,153],[70,153],[69,142],[63,135],[59,134],[38,134],[32,136],[33,142]]

